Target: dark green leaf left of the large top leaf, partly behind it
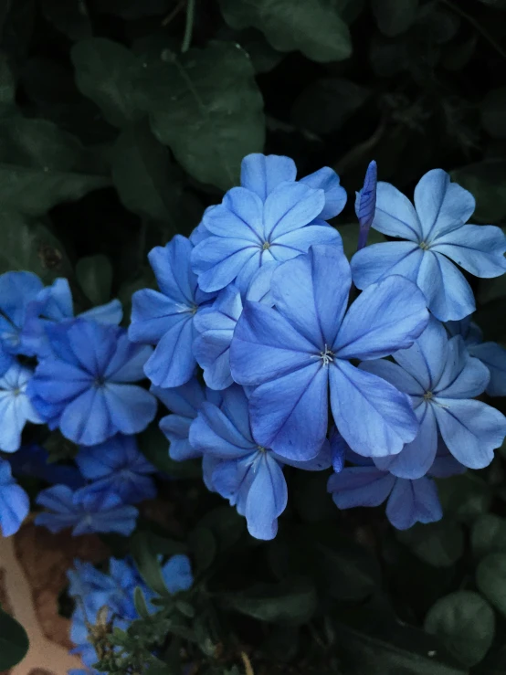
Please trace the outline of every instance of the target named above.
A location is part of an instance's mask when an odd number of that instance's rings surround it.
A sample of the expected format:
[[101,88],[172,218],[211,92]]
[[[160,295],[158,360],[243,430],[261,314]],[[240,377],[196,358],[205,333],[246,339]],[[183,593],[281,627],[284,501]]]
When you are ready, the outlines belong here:
[[90,37],[74,45],[70,56],[80,92],[95,101],[106,121],[123,127],[142,117],[132,84],[141,64],[130,49]]

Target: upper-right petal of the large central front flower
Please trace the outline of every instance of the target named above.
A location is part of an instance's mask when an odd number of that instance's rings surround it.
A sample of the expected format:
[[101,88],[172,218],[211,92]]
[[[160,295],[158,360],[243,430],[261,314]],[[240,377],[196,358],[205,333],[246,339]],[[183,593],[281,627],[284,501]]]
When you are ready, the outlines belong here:
[[426,302],[416,285],[402,277],[388,277],[353,302],[332,351],[340,359],[387,356],[413,344],[427,322]]

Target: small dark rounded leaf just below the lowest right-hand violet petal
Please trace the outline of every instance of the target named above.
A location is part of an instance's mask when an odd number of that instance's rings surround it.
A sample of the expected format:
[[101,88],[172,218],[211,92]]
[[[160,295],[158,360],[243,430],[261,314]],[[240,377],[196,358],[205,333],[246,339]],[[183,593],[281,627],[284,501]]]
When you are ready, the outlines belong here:
[[396,536],[416,557],[434,567],[450,567],[464,553],[464,532],[457,522],[416,523]]

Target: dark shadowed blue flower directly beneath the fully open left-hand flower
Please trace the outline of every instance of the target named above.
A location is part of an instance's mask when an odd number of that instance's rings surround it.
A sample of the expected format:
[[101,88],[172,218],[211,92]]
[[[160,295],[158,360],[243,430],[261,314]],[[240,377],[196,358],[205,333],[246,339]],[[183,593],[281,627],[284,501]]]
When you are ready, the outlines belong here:
[[153,465],[144,458],[133,436],[118,434],[100,445],[79,448],[76,462],[81,474],[93,480],[93,490],[115,492],[125,504],[156,496]]

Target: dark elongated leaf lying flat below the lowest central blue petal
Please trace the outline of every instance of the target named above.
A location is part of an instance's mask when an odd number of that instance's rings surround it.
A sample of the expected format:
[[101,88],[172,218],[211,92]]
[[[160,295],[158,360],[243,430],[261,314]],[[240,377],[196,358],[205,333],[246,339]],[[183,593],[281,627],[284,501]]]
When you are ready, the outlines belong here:
[[225,597],[226,606],[268,623],[297,626],[310,620],[316,592],[309,579],[294,577],[279,584],[258,584]]

